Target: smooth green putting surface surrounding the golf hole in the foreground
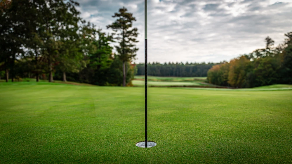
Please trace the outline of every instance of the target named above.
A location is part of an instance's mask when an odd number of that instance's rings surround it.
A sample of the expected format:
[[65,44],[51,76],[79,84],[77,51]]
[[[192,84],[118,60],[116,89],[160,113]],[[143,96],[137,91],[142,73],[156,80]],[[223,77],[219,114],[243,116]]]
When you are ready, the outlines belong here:
[[0,163],[292,163],[292,91],[0,83]]

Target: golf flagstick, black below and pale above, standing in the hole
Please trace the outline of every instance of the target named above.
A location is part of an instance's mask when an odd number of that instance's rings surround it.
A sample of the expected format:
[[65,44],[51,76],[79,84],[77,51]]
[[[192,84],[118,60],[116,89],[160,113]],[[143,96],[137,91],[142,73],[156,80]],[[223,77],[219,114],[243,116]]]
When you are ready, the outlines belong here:
[[145,147],[147,147],[147,0],[145,0]]

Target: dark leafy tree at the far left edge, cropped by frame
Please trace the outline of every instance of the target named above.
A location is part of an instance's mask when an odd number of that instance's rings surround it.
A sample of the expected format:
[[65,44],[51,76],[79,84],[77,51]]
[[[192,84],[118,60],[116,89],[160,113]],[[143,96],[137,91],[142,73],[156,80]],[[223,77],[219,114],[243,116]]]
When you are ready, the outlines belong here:
[[[29,22],[31,17],[31,2],[26,0],[3,0],[0,2],[0,53],[4,62],[6,82],[8,71],[14,81],[14,63],[16,54],[21,54],[23,44],[29,38],[34,22]],[[1,62],[0,61],[0,62]]]

